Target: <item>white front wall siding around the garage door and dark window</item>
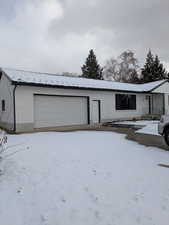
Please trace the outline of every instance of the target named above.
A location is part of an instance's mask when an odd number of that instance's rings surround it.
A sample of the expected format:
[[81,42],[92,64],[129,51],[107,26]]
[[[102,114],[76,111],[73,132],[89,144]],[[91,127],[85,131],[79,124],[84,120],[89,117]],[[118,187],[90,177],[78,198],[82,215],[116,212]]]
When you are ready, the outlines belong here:
[[116,110],[115,92],[112,91],[18,86],[16,89],[16,121],[18,127],[23,124],[30,127],[34,126],[34,94],[88,96],[90,98],[91,124],[93,123],[92,100],[101,101],[101,122],[120,118],[139,117],[147,114],[149,108],[145,94],[136,94],[136,110]]

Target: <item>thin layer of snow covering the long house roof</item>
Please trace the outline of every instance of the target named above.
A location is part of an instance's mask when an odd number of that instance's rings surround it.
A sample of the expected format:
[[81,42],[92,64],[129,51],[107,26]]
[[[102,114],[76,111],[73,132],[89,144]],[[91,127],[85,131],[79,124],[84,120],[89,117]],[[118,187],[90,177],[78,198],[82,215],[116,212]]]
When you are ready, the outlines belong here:
[[49,85],[49,86],[65,86],[77,88],[90,88],[90,89],[105,89],[105,90],[118,90],[118,91],[132,91],[132,92],[150,92],[158,87],[166,80],[150,82],[146,84],[128,84],[114,81],[94,80],[81,77],[69,77],[48,73],[29,72],[24,70],[15,70],[8,68],[1,68],[3,72],[12,80],[17,83],[27,83],[36,85]]

